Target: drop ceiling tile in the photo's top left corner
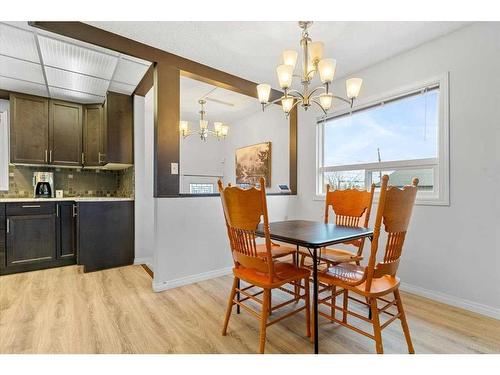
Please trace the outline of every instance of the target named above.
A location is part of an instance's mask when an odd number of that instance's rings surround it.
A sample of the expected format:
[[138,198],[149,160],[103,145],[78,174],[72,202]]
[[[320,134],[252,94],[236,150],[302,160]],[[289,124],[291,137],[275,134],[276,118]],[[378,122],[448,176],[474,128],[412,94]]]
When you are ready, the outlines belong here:
[[33,33],[5,24],[0,24],[0,54],[40,63]]

